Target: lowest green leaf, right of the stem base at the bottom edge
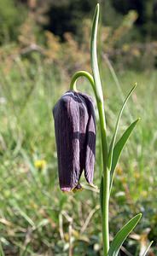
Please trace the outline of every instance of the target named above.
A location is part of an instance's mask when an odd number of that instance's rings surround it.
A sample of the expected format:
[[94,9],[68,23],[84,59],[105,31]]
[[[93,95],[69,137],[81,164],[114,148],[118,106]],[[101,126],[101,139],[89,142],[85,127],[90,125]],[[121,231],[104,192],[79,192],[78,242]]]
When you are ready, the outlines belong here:
[[138,221],[142,217],[142,213],[137,214],[135,217],[123,226],[121,230],[114,236],[113,241],[109,247],[108,256],[118,256],[119,249],[125,241],[126,237],[129,236],[131,231],[135,228]]

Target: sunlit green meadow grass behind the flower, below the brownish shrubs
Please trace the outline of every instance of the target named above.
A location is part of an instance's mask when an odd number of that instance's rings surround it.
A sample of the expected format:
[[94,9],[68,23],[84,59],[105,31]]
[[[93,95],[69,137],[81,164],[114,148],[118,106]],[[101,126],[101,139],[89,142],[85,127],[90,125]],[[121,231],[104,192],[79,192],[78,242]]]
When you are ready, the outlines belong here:
[[[142,220],[121,255],[139,255],[152,239],[156,255],[157,73],[127,71],[119,73],[118,79],[115,83],[103,63],[108,141],[123,97],[135,82],[137,90],[125,108],[119,136],[132,120],[141,117],[141,121],[117,167],[110,201],[111,239],[122,224],[142,212]],[[58,184],[52,107],[69,89],[69,81],[55,66],[43,65],[40,58],[32,65],[19,58],[9,72],[0,68],[0,241],[6,255],[102,253],[98,190],[90,189],[84,177],[84,191],[75,194],[61,193]],[[84,79],[79,80],[78,89],[93,95]],[[98,123],[97,111],[96,119]],[[97,186],[101,159],[97,125]],[[44,160],[43,166],[37,166],[37,160]]]

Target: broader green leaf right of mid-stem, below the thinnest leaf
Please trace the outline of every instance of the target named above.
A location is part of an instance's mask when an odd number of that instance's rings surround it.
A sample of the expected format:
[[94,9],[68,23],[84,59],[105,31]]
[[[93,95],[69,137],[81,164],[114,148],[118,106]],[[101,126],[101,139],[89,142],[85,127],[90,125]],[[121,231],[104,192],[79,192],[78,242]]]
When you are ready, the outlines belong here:
[[118,143],[115,144],[115,147],[113,148],[113,160],[112,160],[112,166],[111,166],[111,179],[110,179],[110,190],[112,188],[112,184],[113,184],[113,176],[114,176],[114,172],[115,172],[115,167],[117,166],[120,154],[123,150],[123,148],[125,147],[125,144],[127,143],[129,137],[131,136],[132,131],[134,130],[134,128],[137,125],[137,122],[139,121],[139,119],[137,119],[136,121],[134,121],[123,133],[122,137],[120,137]]

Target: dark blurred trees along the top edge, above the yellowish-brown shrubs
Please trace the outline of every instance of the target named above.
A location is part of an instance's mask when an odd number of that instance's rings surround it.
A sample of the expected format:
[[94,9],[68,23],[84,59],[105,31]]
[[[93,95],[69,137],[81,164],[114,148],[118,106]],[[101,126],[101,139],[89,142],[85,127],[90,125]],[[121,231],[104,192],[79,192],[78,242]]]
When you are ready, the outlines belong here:
[[[143,0],[105,0],[102,5],[103,26],[118,27],[131,10],[137,13],[134,36],[137,40],[157,39],[157,1]],[[9,39],[15,39],[15,28],[25,19],[26,10],[32,10],[36,22],[44,29],[64,39],[65,32],[79,35],[82,20],[89,18],[96,6],[93,0],[0,0],[1,33],[9,33]],[[135,40],[135,38],[132,38]]]

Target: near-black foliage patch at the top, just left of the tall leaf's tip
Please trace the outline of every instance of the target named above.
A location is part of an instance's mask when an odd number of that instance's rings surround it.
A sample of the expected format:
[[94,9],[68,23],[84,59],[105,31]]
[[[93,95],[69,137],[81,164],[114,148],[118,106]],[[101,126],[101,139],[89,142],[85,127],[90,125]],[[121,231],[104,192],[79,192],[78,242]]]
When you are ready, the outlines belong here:
[[61,39],[64,39],[65,32],[72,32],[79,36],[82,20],[84,17],[90,17],[96,3],[96,0],[50,1],[47,11],[49,22],[45,28],[59,35]]

